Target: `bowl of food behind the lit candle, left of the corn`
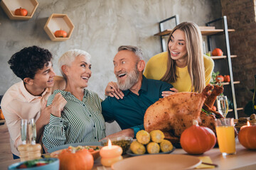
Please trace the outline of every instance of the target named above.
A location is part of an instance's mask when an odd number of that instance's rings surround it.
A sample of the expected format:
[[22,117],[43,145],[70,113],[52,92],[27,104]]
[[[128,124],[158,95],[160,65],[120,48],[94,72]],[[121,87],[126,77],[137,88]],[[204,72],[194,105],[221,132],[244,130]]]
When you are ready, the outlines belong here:
[[[127,150],[129,149],[133,138],[132,137],[114,137],[110,138],[112,145],[118,145],[119,147],[122,147],[122,154],[126,154]],[[108,145],[108,139],[102,140],[102,145],[107,146]]]

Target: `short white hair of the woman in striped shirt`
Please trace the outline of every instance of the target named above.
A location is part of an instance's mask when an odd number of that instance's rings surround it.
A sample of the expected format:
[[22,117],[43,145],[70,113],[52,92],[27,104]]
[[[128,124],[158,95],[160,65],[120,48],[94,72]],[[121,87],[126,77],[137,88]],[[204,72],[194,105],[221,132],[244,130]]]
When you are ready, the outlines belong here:
[[70,64],[75,60],[75,57],[78,56],[85,56],[87,57],[89,60],[91,58],[91,55],[88,52],[85,52],[83,50],[68,50],[67,52],[65,52],[60,59],[58,60],[58,68],[60,69],[61,74],[63,75],[64,79],[67,80],[67,77],[65,76],[65,74],[63,73],[61,67],[63,65],[68,65],[70,66]]

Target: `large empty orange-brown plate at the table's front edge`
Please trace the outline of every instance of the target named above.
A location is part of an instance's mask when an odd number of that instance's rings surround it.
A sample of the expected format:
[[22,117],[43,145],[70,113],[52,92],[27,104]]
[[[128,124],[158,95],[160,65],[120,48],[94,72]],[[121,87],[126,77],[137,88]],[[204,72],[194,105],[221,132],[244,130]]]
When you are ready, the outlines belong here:
[[193,169],[201,164],[198,157],[184,154],[147,154],[139,157],[129,157],[112,164],[114,170],[144,170],[144,169]]

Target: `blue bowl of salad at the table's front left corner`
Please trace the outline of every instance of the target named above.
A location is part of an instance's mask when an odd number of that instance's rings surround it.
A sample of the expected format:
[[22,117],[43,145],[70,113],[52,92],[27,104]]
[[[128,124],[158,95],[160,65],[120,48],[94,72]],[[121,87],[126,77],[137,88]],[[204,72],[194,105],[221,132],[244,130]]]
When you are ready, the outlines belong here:
[[43,170],[52,169],[58,170],[60,166],[60,161],[57,158],[45,158],[45,159],[33,159],[26,162],[18,162],[11,164],[8,169],[23,169],[23,170]]

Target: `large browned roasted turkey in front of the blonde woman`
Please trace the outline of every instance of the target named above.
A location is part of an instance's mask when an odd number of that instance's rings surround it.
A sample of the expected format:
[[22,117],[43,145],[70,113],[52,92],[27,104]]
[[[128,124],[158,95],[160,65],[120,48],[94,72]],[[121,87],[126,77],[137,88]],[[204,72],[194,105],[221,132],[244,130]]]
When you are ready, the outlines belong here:
[[163,131],[165,138],[173,143],[179,142],[181,133],[193,124],[193,120],[198,120],[199,125],[215,132],[215,115],[218,118],[222,115],[211,108],[221,93],[223,93],[222,86],[213,87],[208,84],[201,94],[181,92],[161,98],[146,110],[144,128],[148,132]]

